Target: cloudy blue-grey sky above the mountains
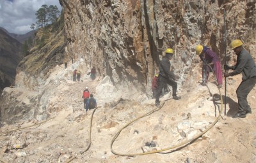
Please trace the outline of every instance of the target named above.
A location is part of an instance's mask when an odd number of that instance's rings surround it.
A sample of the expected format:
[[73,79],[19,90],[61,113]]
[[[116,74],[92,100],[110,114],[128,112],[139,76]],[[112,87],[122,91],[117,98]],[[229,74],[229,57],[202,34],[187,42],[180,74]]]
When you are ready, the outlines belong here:
[[36,11],[43,4],[56,5],[61,11],[59,0],[0,0],[0,27],[10,33],[25,34],[36,24]]

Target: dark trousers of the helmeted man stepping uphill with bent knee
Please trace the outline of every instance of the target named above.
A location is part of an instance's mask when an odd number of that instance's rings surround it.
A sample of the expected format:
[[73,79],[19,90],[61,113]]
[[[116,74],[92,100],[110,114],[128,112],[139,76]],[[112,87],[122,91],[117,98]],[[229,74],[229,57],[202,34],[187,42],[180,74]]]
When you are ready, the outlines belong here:
[[159,75],[157,94],[156,94],[156,103],[159,103],[159,97],[160,97],[162,90],[166,84],[172,86],[172,96],[176,96],[177,87],[178,87],[177,82],[170,78],[164,78],[163,76]]

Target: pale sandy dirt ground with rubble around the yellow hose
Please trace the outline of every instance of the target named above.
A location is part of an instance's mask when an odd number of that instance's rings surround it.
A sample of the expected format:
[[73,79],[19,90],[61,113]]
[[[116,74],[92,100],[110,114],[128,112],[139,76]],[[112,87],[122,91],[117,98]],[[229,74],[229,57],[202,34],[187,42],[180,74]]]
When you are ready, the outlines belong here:
[[[233,113],[229,106],[236,106],[235,94],[230,95],[227,104],[228,116],[221,118],[202,138],[192,144],[173,151],[143,155],[137,157],[121,157],[110,150],[110,143],[116,132],[131,120],[154,109],[154,99],[138,103],[129,99],[121,99],[112,103],[99,104],[102,108],[95,111],[92,123],[92,145],[90,149],[79,155],[88,146],[90,116],[92,110],[85,114],[83,110],[84,87],[96,93],[98,81],[67,81],[58,86],[55,101],[62,108],[39,127],[31,127],[0,137],[1,157],[7,162],[65,162],[74,155],[72,162],[255,162],[256,160],[256,120],[255,114],[246,118],[230,118]],[[235,85],[236,86],[236,85]],[[234,86],[234,87],[235,87]],[[229,87],[232,89],[232,87]],[[195,90],[186,92],[180,101],[170,99],[161,110],[141,118],[129,125],[116,139],[113,149],[120,153],[140,153],[168,148],[193,138],[204,131],[218,116],[220,98],[215,85],[209,84],[214,98],[206,87],[198,85]],[[63,92],[64,93],[61,93]],[[221,89],[223,93],[224,89]],[[254,96],[255,90],[252,95]],[[252,104],[253,97],[248,98]],[[60,96],[60,97],[59,97]],[[163,98],[161,99],[163,101]],[[255,104],[252,104],[255,111]],[[253,111],[253,112],[254,112]],[[234,112],[234,111],[233,111]],[[235,113],[235,112],[234,112]],[[27,125],[21,124],[21,126]],[[1,131],[15,128],[4,125]],[[154,141],[155,147],[145,144]],[[25,142],[20,149],[10,149],[11,145]],[[3,149],[10,149],[3,152]],[[24,156],[19,156],[19,155]],[[26,154],[24,154],[26,153]],[[18,155],[18,156],[17,156]]]

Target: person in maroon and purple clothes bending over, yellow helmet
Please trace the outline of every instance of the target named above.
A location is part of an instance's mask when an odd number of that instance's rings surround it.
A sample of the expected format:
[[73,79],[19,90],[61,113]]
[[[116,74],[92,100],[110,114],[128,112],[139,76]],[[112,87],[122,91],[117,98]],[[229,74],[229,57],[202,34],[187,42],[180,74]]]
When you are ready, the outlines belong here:
[[[222,87],[222,72],[221,72],[221,65],[220,65],[220,58],[216,53],[214,53],[210,48],[207,46],[197,45],[196,46],[196,55],[199,55],[200,59],[203,61],[202,67],[202,80],[203,85],[205,85],[209,78],[209,73],[213,70],[216,78],[218,87]],[[209,66],[212,67],[212,70]]]

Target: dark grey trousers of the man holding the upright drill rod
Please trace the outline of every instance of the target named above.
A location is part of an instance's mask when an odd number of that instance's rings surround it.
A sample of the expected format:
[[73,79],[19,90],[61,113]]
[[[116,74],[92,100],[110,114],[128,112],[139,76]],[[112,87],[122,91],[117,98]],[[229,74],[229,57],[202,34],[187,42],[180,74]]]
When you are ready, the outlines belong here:
[[236,90],[237,99],[238,99],[238,112],[241,114],[245,114],[246,110],[251,111],[251,107],[248,104],[247,96],[253,89],[256,83],[256,76],[253,78],[249,78],[248,80],[243,80],[239,87]]

